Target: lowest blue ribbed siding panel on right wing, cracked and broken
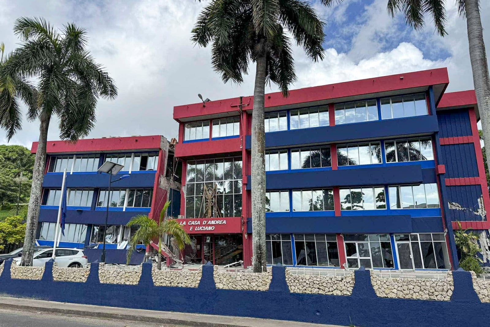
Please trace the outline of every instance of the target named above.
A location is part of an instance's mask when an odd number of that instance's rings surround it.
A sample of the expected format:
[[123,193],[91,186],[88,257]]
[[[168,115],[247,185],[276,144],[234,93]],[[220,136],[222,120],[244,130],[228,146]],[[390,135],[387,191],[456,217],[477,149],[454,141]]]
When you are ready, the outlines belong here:
[[449,202],[460,204],[465,210],[449,209],[449,216],[453,222],[455,221],[481,221],[482,217],[476,215],[474,211],[478,211],[478,199],[482,195],[480,185],[461,185],[461,186],[446,186]]

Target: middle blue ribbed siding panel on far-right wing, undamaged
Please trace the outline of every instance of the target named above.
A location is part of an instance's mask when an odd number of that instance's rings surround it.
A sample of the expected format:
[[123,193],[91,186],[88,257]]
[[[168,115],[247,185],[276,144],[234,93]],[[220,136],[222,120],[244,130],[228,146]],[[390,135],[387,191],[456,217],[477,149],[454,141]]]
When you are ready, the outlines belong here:
[[442,145],[440,164],[446,166],[445,178],[479,176],[473,143]]

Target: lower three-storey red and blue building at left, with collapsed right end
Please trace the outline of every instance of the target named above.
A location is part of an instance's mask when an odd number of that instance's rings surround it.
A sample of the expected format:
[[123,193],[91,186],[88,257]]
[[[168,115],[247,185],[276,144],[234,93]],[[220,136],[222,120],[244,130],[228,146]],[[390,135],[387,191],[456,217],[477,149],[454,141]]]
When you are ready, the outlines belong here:
[[[100,260],[109,202],[106,249],[110,251],[106,262],[125,262],[126,241],[136,228],[125,225],[133,216],[157,217],[167,198],[173,197],[169,214],[179,213],[181,168],[174,159],[173,146],[161,135],[84,139],[76,144],[48,142],[37,242],[53,245],[63,172],[67,169],[66,226],[60,246],[95,248],[86,254],[92,261]],[[31,152],[36,150],[34,142]],[[97,172],[106,160],[124,166],[113,180],[130,176],[113,182],[110,194],[109,175]],[[134,256],[135,261],[141,262],[141,255]]]

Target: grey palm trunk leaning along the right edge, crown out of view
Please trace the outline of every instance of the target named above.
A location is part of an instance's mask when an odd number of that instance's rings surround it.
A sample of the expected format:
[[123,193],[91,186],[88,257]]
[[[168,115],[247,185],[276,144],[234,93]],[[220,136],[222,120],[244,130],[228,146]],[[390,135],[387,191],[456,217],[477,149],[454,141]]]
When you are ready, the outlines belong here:
[[[485,144],[490,144],[490,76],[485,43],[483,42],[483,28],[478,0],[465,0],[465,9],[469,58],[471,60],[478,111],[482,122],[483,141]],[[487,156],[487,163],[490,164],[490,156]]]

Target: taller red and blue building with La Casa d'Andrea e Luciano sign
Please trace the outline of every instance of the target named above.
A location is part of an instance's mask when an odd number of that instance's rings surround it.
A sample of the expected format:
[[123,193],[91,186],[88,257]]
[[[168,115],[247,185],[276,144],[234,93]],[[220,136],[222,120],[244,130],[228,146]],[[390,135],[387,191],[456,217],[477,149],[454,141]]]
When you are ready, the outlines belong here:
[[[447,70],[265,96],[268,264],[454,269],[453,227],[489,229],[474,91]],[[251,264],[253,97],[174,107],[186,261]]]

